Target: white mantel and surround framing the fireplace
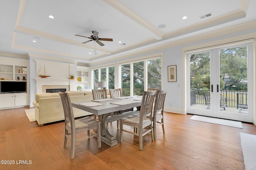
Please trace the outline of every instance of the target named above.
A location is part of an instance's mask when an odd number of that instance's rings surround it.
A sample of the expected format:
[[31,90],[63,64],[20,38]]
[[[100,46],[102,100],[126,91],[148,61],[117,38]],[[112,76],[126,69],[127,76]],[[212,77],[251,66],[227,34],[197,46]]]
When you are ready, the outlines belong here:
[[70,91],[76,90],[76,81],[72,79],[34,78],[36,93],[42,93],[42,86],[69,86]]

